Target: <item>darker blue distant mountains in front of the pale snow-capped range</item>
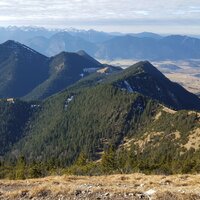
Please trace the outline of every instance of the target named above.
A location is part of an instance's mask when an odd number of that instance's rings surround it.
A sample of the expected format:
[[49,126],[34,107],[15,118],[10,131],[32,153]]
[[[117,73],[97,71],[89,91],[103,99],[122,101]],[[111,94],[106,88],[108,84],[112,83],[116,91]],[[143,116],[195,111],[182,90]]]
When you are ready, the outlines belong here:
[[[109,39],[110,38],[110,39]],[[105,39],[105,38],[104,38]],[[83,49],[100,59],[197,59],[200,58],[200,39],[188,36],[171,35],[167,37],[155,34],[122,35],[107,37],[101,43],[93,43],[87,38],[72,36],[69,33],[57,33],[49,39],[39,38],[27,43],[44,53],[54,55],[60,51]],[[46,43],[43,48],[40,43]],[[39,44],[39,46],[37,46]]]

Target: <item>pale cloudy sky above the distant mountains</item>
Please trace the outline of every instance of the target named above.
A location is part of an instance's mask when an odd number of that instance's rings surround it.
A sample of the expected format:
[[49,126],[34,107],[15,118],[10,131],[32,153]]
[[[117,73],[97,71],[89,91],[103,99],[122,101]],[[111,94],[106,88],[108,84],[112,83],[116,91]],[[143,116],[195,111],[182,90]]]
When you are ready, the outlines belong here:
[[0,26],[200,35],[200,0],[0,0]]

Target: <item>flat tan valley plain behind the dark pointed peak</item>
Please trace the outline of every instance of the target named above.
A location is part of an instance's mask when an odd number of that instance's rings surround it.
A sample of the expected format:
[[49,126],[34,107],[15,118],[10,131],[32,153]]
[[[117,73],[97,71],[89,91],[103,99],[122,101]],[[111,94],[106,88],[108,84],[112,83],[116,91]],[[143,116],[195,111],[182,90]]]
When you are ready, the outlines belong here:
[[[114,66],[127,68],[140,60],[100,60],[102,63],[108,63]],[[200,96],[200,60],[161,60],[150,61],[164,75],[173,82],[177,82],[188,91]]]

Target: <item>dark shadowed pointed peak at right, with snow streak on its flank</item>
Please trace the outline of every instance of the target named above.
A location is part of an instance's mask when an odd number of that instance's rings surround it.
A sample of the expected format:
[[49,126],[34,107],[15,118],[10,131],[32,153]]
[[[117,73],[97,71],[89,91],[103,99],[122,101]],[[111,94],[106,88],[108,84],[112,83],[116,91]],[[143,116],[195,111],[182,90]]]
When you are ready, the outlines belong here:
[[111,78],[128,92],[139,92],[174,109],[200,110],[199,98],[171,82],[148,61],[136,63]]

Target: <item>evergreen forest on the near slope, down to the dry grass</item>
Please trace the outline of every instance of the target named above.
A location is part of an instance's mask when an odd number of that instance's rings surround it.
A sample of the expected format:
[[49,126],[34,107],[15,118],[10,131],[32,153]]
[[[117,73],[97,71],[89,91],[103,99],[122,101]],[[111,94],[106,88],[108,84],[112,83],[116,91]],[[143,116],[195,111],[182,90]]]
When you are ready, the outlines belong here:
[[196,112],[170,113],[107,84],[67,91],[37,109],[27,135],[2,160],[1,178],[200,171],[199,149],[184,147],[200,126]]

